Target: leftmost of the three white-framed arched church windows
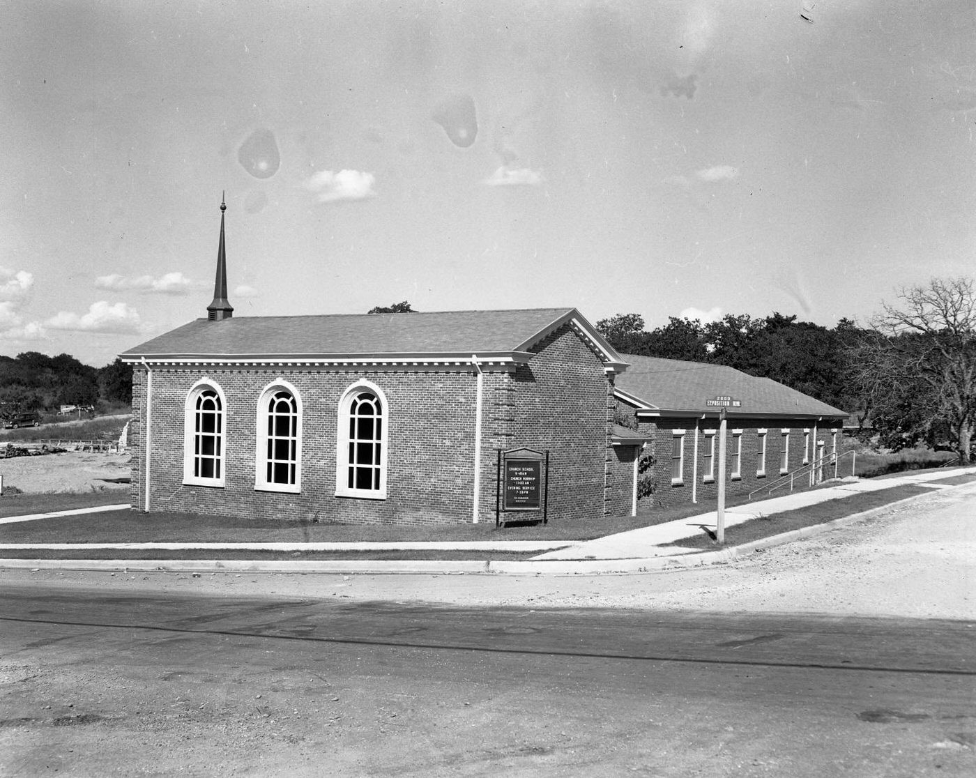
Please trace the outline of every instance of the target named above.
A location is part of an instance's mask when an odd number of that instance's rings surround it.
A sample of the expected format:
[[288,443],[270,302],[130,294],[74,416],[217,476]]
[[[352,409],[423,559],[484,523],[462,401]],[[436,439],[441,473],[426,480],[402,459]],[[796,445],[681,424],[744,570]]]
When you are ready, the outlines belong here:
[[224,389],[201,379],[183,408],[183,483],[224,486],[227,402]]

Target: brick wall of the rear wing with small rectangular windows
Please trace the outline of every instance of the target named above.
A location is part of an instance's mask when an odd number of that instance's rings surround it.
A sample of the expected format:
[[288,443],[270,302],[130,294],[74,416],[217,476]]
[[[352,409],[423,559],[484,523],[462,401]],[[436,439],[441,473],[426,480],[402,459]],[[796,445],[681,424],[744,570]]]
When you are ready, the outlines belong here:
[[[692,478],[697,478],[695,485],[696,498],[699,503],[714,502],[718,496],[718,421],[716,419],[698,420],[698,471],[693,472],[695,463],[695,419],[660,419],[657,421],[641,421],[639,428],[642,432],[653,435],[653,450],[657,458],[655,465],[658,489],[653,498],[655,506],[669,507],[684,505],[692,502]],[[839,425],[835,428],[839,430]],[[795,471],[803,466],[804,432],[809,430],[808,457],[813,459],[814,423],[798,419],[733,419],[729,420],[726,430],[725,453],[725,494],[726,496],[743,495],[760,488],[763,484],[771,484],[780,477],[780,457],[782,452],[783,430],[788,430],[789,458],[787,471]],[[684,431],[684,460],[682,482],[671,483],[671,441],[675,430]],[[759,436],[758,430],[766,430],[765,474],[757,473]],[[708,447],[708,432],[714,435],[713,473],[711,480],[706,480],[707,470],[706,452]],[[736,431],[741,431],[742,461],[741,477],[732,478],[734,466],[732,452],[735,450]],[[829,426],[821,423],[817,427],[817,439],[825,443],[824,453],[831,452],[831,431]],[[824,477],[830,477],[833,471],[825,471]],[[809,475],[797,476],[793,481],[793,490],[805,489],[810,485]],[[789,491],[789,486],[786,487]],[[778,489],[776,493],[783,493]],[[776,494],[774,493],[774,494]],[[756,495],[759,499],[761,495]],[[650,498],[648,498],[650,499]]]

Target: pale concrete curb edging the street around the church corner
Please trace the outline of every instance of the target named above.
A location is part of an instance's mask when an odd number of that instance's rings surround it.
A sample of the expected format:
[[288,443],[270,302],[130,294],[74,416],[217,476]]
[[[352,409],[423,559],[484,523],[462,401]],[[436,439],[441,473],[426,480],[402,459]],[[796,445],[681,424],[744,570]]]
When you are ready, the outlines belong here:
[[[956,484],[947,487],[956,489],[972,484]],[[705,553],[677,554],[674,556],[651,556],[629,559],[553,559],[551,561],[491,561],[489,560],[444,560],[444,559],[389,559],[386,561],[350,559],[317,560],[275,560],[260,559],[0,559],[0,570],[94,570],[129,572],[248,572],[248,573],[358,573],[361,575],[530,575],[530,576],[575,576],[575,575],[614,575],[632,573],[668,572],[692,567],[703,567],[716,562],[727,562],[756,551],[764,551],[793,541],[829,532],[836,527],[853,524],[876,513],[890,510],[910,503],[930,493],[905,497],[883,506],[847,516],[834,518],[822,524],[801,527],[779,535],[771,535],[730,549]]]

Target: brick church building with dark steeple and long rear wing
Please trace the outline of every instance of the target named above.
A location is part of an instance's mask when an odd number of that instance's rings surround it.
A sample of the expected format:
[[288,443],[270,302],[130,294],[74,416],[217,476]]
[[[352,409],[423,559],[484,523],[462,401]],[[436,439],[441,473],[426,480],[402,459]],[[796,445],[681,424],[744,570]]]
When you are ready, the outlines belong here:
[[221,210],[207,317],[121,354],[134,509],[510,519],[499,452],[529,449],[548,459],[535,475],[549,518],[628,515],[713,496],[709,397],[741,403],[728,410],[729,494],[800,467],[824,435],[835,448],[846,418],[731,368],[619,354],[572,307],[234,317]]

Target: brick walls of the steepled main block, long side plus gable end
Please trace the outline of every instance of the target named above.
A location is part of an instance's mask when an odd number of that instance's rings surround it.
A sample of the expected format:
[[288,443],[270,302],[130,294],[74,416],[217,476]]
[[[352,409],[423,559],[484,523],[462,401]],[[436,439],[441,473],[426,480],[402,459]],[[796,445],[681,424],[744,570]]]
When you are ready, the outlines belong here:
[[[496,451],[550,450],[549,515],[599,516],[607,473],[608,382],[598,357],[569,326],[533,349],[516,371],[485,370],[479,518],[494,520]],[[136,366],[131,497],[144,502],[146,373]],[[187,394],[207,378],[224,390],[225,484],[183,484]],[[257,406],[276,380],[301,396],[302,491],[255,490]],[[336,497],[336,435],[343,394],[360,379],[383,389],[386,500]],[[458,523],[472,517],[476,375],[454,371],[155,368],[150,511],[347,523]]]

